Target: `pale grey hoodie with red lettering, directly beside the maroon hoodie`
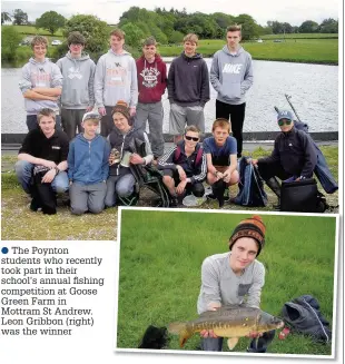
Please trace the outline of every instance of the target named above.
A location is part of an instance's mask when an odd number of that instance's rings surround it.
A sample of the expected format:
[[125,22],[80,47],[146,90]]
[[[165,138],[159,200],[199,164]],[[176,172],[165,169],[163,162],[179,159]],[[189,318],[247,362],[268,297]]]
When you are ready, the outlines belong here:
[[118,100],[130,107],[138,104],[138,80],[135,59],[124,50],[116,55],[111,49],[101,56],[96,66],[95,98],[98,108],[115,106]]

